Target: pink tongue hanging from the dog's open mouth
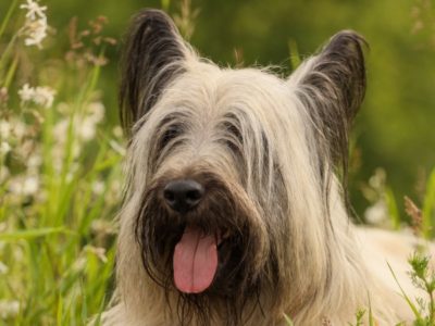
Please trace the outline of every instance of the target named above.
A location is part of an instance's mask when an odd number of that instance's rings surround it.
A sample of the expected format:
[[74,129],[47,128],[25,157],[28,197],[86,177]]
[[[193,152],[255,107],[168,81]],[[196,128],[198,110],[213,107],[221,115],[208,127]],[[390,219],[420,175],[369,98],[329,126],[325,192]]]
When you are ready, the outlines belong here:
[[185,293],[204,291],[213,281],[217,268],[217,247],[214,236],[186,227],[174,251],[174,281]]

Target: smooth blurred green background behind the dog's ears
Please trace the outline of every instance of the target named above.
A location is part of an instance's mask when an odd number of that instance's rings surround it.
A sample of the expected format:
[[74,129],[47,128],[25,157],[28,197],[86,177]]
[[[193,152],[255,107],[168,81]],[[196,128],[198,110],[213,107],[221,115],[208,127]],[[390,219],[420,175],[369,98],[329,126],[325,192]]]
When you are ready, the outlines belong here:
[[[0,2],[3,15],[10,0]],[[46,0],[52,30],[46,49],[62,58],[69,48],[69,22],[78,25],[98,15],[109,20],[105,34],[122,38],[130,16],[141,8],[165,7],[181,12],[181,1]],[[303,58],[340,29],[362,34],[369,45],[368,92],[353,129],[351,200],[357,213],[368,205],[361,187],[376,167],[401,206],[408,195],[419,202],[422,180],[435,165],[435,20],[434,3],[425,0],[196,0],[191,43],[222,65],[278,64],[291,71],[289,43]],[[109,124],[117,123],[116,88],[120,43],[107,53],[100,88]],[[293,49],[290,49],[293,48]],[[45,52],[47,51],[47,52]],[[235,55],[235,52],[238,54]],[[238,59],[237,59],[237,58]],[[240,59],[241,58],[241,59]],[[400,210],[401,211],[401,210]],[[405,217],[405,214],[402,214]]]

